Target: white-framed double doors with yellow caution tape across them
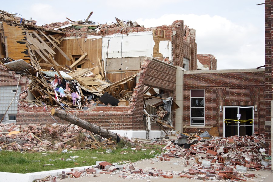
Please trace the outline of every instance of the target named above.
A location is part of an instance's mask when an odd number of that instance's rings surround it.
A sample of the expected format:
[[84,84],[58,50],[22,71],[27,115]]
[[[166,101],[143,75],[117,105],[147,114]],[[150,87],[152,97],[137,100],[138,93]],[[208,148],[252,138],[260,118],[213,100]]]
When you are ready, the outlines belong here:
[[254,133],[254,106],[224,106],[224,137]]

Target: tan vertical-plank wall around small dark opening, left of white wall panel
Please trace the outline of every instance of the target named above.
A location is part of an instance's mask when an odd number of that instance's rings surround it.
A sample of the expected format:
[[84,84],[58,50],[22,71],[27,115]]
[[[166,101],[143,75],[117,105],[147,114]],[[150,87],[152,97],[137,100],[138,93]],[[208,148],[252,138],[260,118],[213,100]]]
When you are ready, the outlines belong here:
[[[62,45],[59,45],[59,48],[66,55],[83,55],[87,52],[87,56],[85,57],[86,62],[81,65],[81,68],[93,68],[99,66],[98,58],[101,60],[101,52],[102,52],[102,40],[101,39],[85,39],[84,38],[74,38],[74,39],[64,39],[61,42]],[[71,65],[72,61],[67,61],[59,51],[56,51],[55,60],[59,65]]]

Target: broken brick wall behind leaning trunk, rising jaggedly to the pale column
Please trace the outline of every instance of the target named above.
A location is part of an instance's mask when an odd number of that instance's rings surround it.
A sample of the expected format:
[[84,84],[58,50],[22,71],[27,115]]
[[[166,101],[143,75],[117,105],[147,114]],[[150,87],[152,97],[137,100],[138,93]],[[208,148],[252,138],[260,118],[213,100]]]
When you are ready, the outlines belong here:
[[[160,73],[160,74],[159,74]],[[83,120],[111,130],[145,130],[143,120],[143,87],[150,86],[175,91],[176,68],[157,60],[143,61],[137,76],[136,87],[129,106],[93,106],[90,111],[72,110],[71,113]],[[52,107],[30,107],[22,105],[17,114],[17,124],[66,123],[50,115]],[[153,130],[159,130],[152,124]]]

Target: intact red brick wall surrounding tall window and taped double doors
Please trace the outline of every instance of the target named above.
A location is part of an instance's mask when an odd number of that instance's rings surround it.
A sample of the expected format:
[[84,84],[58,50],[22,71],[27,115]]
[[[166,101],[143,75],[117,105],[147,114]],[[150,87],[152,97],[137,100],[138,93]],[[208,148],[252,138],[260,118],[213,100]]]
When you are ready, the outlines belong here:
[[[205,90],[205,126],[218,127],[223,136],[223,112],[219,106],[258,106],[254,112],[254,130],[264,132],[265,72],[184,72],[184,126],[190,126],[190,90]],[[203,127],[186,127],[184,132],[204,130]]]

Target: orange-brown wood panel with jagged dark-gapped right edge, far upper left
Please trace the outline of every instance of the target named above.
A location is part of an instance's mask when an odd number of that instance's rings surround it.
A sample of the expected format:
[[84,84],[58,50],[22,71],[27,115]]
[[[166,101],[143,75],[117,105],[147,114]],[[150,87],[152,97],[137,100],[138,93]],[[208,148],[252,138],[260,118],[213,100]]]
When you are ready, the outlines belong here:
[[[23,59],[30,63],[29,51],[26,43],[26,29],[23,26],[12,26],[3,22],[5,35],[6,57]],[[7,46],[8,45],[8,46]]]

